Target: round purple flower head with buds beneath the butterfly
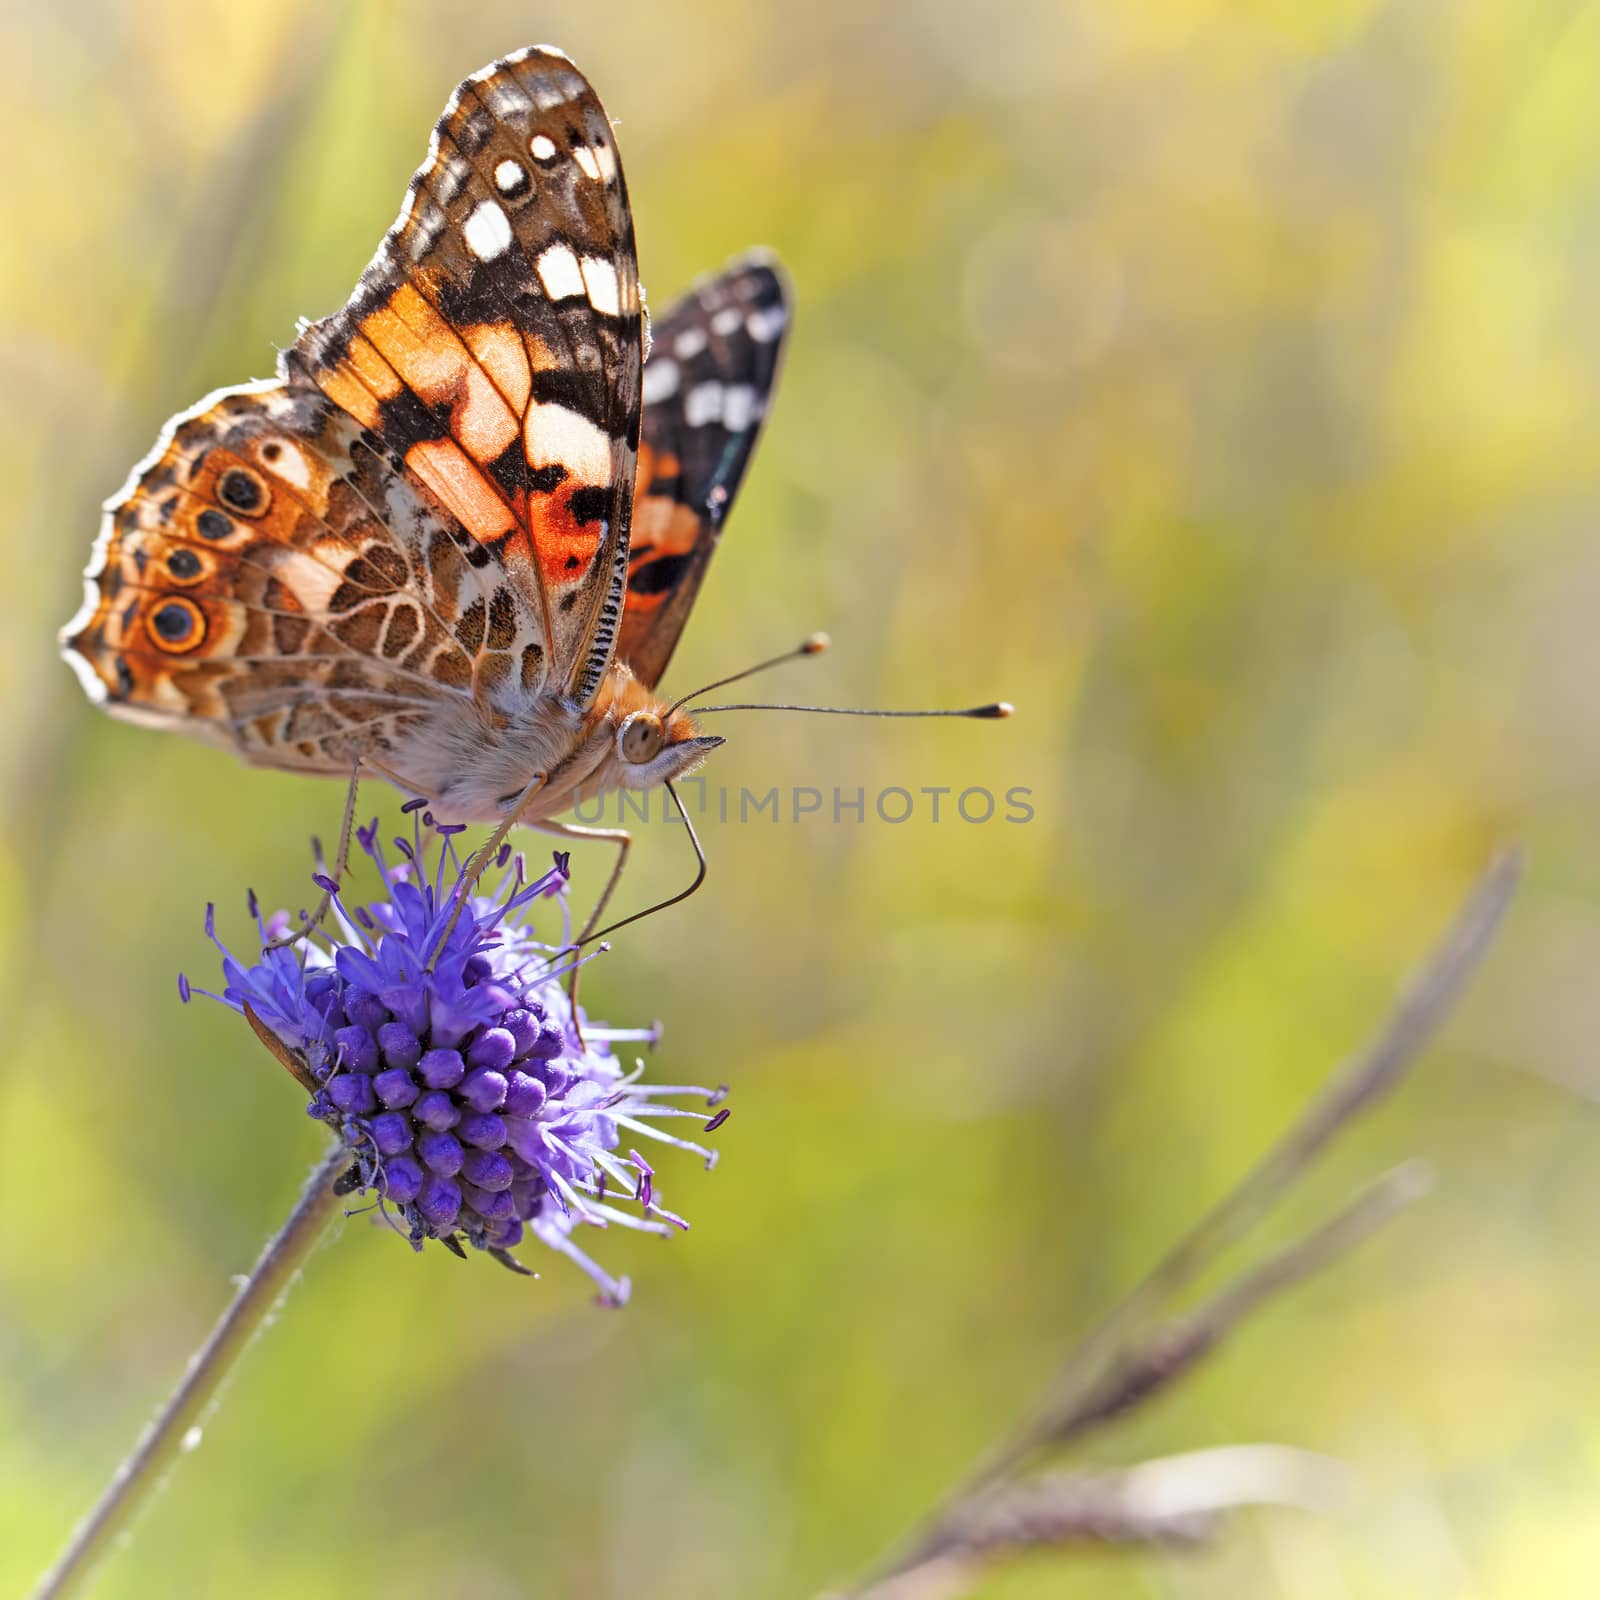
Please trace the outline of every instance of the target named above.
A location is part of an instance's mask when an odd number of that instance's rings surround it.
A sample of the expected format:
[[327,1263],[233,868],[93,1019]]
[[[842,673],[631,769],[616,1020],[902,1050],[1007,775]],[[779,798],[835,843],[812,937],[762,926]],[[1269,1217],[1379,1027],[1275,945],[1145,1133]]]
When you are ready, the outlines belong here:
[[[659,1203],[654,1170],[634,1146],[677,1146],[714,1166],[712,1150],[658,1123],[706,1122],[706,1112],[672,1102],[714,1106],[720,1091],[642,1082],[643,1062],[627,1072],[611,1046],[654,1043],[654,1029],[574,1016],[562,984],[574,962],[565,854],[530,883],[523,858],[506,846],[462,906],[464,862],[451,837],[459,829],[410,810],[413,837],[394,840],[403,858],[394,864],[376,822],[357,829],[386,896],[352,907],[334,893],[323,925],[294,946],[269,949],[288,917],[264,920],[251,894],[261,950],[246,965],[218,939],[208,907],[224,981],[211,998],[235,1011],[248,1005],[304,1066],[315,1085],[307,1110],[350,1150],[349,1189],[371,1190],[386,1216],[397,1213],[414,1248],[437,1238],[459,1254],[466,1242],[518,1266],[509,1251],[533,1234],[576,1261],[603,1304],[621,1306],[629,1280],[613,1278],[573,1235],[611,1222],[686,1229]],[[563,922],[554,946],[526,922],[547,899]],[[210,994],[179,978],[182,998],[190,992]]]

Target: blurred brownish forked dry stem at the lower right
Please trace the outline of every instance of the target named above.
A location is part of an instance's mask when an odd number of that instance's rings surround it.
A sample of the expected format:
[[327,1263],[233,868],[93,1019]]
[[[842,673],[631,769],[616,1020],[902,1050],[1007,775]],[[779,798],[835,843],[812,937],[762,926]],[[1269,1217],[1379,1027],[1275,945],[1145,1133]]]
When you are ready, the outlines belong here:
[[1299,1122],[1197,1222],[1067,1358],[1016,1432],[888,1557],[850,1600],[952,1600],[994,1562],[1070,1544],[1192,1544],[1245,1506],[1326,1506],[1338,1462],[1282,1445],[1232,1445],[1146,1461],[1123,1472],[1030,1477],[1075,1443],[1163,1394],[1278,1291],[1326,1267],[1429,1189],[1418,1162],[1363,1189],[1320,1227],[1240,1272],[1194,1310],[1154,1320],[1283,1198],[1296,1179],[1416,1062],[1483,960],[1522,875],[1498,856],[1402,995],[1382,1030],[1346,1062]]

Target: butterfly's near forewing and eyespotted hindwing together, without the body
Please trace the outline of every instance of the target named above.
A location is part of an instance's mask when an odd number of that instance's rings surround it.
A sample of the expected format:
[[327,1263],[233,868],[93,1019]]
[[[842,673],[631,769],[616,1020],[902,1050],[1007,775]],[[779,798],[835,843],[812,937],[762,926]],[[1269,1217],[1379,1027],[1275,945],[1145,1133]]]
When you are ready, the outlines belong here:
[[475,74],[350,304],[107,502],[61,635],[90,698],[434,789],[442,731],[576,720],[622,606],[640,323],[589,85],[538,50]]

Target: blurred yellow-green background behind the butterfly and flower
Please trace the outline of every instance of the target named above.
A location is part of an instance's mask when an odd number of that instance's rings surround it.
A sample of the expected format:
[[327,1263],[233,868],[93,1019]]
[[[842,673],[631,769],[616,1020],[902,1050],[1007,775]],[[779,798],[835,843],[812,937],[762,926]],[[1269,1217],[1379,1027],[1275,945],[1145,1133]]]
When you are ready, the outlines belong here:
[[[798,293],[669,682],[826,627],[797,691],[1019,706],[728,722],[712,792],[1026,786],[1034,818],[707,821],[706,890],[587,984],[666,1022],[656,1075],[734,1088],[717,1174],[662,1170],[693,1232],[592,1238],[635,1278],[608,1315],[562,1262],[349,1222],[101,1592],[846,1578],[1520,838],[1482,982],[1299,1221],[1413,1152],[1435,1198],[1091,1451],[1283,1440],[1357,1502],[982,1594],[1592,1594],[1600,6],[1557,0],[6,10],[0,1589],[318,1150],[174,973],[206,899],[242,936],[246,885],[306,898],[339,792],[88,709],[53,635],[98,504],[344,298],[454,82],[538,40],[619,122],[658,307],[750,243]],[[688,869],[642,832],[632,904]]]

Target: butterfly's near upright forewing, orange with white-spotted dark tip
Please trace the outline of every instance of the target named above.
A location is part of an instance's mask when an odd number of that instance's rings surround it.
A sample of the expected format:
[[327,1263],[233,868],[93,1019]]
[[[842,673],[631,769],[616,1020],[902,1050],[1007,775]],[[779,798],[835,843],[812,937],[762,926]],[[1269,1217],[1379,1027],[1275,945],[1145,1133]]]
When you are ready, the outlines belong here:
[[642,325],[611,125],[534,48],[461,83],[350,302],[285,357],[464,530],[509,654],[579,709],[622,610]]

